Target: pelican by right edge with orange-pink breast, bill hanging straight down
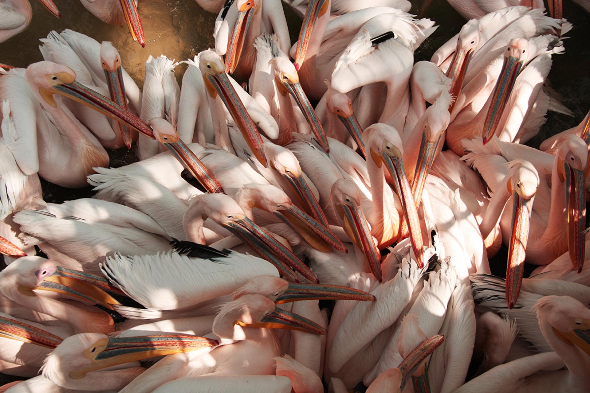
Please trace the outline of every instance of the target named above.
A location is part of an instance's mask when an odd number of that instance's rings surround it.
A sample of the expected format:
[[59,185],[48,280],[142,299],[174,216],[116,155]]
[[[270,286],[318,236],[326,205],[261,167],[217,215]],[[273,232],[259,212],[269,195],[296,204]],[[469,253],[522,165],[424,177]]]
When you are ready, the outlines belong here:
[[[584,173],[588,147],[584,140],[575,135],[568,136],[556,156],[521,144],[502,142],[497,138],[486,146],[477,140],[466,141],[467,146],[473,154],[466,158],[474,160],[474,166],[483,166],[483,172],[480,173],[484,177],[488,177],[486,166],[497,170],[498,166],[493,162],[501,166],[502,160],[524,159],[533,164],[540,179],[545,181],[537,189],[533,213],[538,215],[533,214],[531,217],[535,226],[531,226],[526,260],[545,265],[569,250],[572,266],[580,272],[585,260]],[[476,164],[477,160],[481,162]],[[495,181],[490,178],[487,183],[492,187]],[[504,230],[502,232],[503,236],[507,235]]]

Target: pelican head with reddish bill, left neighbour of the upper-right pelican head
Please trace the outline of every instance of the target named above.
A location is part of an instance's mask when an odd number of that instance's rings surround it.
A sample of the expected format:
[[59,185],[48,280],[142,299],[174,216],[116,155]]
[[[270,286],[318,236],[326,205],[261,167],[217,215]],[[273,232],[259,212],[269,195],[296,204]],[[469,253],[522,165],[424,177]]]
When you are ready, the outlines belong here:
[[463,79],[467,73],[467,66],[473,57],[481,39],[478,19],[471,19],[463,25],[457,38],[457,48],[453,60],[448,67],[447,77],[451,79],[451,88],[449,92],[453,97],[458,97]]

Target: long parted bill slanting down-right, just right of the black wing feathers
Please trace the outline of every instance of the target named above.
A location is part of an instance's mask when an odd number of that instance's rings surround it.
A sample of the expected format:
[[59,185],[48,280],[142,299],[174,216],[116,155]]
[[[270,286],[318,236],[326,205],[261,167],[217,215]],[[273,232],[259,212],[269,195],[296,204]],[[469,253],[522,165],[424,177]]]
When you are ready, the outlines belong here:
[[312,270],[301,262],[289,248],[278,242],[270,233],[248,219],[248,217],[228,221],[223,226],[255,250],[260,257],[272,263],[281,276],[290,281],[299,282],[299,279],[293,273],[293,270],[295,270],[311,282],[319,283]]

